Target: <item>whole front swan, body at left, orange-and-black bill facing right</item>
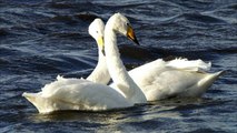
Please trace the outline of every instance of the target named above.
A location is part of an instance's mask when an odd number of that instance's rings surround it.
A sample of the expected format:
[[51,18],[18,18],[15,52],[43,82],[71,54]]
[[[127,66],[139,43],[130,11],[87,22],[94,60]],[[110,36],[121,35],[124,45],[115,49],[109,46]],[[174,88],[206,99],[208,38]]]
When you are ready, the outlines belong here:
[[46,84],[45,88],[41,89],[41,92],[23,93],[22,95],[29,100],[40,113],[59,110],[110,110],[132,106],[135,103],[146,103],[146,98],[141,90],[136,86],[132,80],[128,80],[130,78],[118,57],[118,51],[116,51],[115,31],[124,35],[129,35],[129,38],[136,41],[134,31],[127,23],[129,24],[129,21],[124,16],[112,16],[106,27],[106,34],[112,33],[112,35],[111,38],[108,35],[105,39],[107,65],[108,68],[112,68],[109,69],[111,78],[115,83],[118,84],[117,90],[124,92],[124,95],[103,84],[93,83],[83,79],[65,79],[61,76],[58,76],[57,81]]

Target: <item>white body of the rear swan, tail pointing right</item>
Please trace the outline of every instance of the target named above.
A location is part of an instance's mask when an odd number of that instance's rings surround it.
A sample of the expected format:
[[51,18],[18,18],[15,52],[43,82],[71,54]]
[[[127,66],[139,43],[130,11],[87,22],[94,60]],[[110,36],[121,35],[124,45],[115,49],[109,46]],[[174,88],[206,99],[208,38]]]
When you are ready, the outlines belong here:
[[[101,28],[103,28],[102,24]],[[101,61],[106,63],[106,57],[101,55]],[[214,81],[224,73],[224,71],[216,73],[206,72],[209,71],[210,68],[210,62],[205,63],[200,59],[175,59],[171,61],[157,59],[141,66],[135,68],[128,73],[145,93],[146,99],[148,101],[156,101],[172,96],[201,96]],[[110,79],[110,74],[106,71],[107,66],[102,66],[102,78],[106,79],[107,84],[109,82],[108,79]],[[112,83],[110,86],[116,88],[116,84]]]

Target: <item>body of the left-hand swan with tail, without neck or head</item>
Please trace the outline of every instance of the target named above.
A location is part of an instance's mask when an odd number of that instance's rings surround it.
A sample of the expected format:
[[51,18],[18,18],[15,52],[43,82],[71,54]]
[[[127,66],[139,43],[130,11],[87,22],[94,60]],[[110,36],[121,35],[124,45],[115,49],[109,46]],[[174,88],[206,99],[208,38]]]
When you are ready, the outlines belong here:
[[113,89],[81,79],[60,79],[39,93],[23,93],[40,113],[58,110],[101,111],[128,108],[129,103]]

